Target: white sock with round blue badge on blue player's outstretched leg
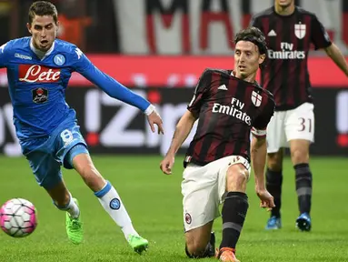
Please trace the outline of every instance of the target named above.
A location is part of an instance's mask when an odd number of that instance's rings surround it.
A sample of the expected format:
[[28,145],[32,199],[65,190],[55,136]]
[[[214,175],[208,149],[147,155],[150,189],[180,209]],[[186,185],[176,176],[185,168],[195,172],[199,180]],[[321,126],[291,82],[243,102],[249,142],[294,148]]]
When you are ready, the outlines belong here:
[[128,239],[129,235],[139,236],[132,225],[131,217],[125,210],[121,197],[110,182],[107,181],[103,189],[95,192],[94,195],[98,197],[100,204],[109,213],[110,217],[114,219],[114,222],[121,227],[126,239]]

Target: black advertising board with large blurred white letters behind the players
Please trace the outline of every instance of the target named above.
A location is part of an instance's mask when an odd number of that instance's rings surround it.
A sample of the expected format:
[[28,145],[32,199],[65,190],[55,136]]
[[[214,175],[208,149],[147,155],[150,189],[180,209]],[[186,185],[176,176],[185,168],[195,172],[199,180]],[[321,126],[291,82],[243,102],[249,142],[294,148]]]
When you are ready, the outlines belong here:
[[[193,88],[134,87],[133,90],[156,105],[164,119],[164,136],[150,131],[144,115],[137,108],[110,98],[94,86],[70,88],[66,92],[67,103],[75,108],[92,153],[165,154],[175,125],[192,97]],[[313,155],[346,156],[348,85],[313,88],[313,96],[316,105]],[[8,92],[6,88],[0,88],[0,150],[8,156],[20,156],[12,116]],[[189,145],[195,128],[181,152]]]

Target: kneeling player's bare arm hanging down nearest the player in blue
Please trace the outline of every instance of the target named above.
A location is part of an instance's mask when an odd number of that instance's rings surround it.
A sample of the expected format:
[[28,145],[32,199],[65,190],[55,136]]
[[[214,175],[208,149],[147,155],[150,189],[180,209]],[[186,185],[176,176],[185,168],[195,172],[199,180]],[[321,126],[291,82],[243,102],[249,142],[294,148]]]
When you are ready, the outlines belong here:
[[190,134],[196,119],[197,117],[194,116],[191,111],[187,110],[176,125],[172,144],[169,147],[167,154],[164,156],[164,160],[160,164],[160,168],[165,175],[172,174],[175,154],[179,150],[180,146],[183,145],[184,140],[186,140],[187,136]]

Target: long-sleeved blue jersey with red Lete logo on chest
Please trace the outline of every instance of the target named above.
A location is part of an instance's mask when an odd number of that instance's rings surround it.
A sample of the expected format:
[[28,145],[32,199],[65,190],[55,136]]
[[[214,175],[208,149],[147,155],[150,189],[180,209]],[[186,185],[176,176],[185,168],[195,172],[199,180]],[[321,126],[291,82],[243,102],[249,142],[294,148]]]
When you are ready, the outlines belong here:
[[40,59],[30,41],[31,37],[19,38],[0,48],[0,67],[7,68],[19,140],[47,136],[66,118],[75,119],[75,111],[65,102],[65,89],[73,72],[85,76],[108,95],[142,111],[150,105],[143,97],[101,72],[75,45],[56,39],[51,50]]

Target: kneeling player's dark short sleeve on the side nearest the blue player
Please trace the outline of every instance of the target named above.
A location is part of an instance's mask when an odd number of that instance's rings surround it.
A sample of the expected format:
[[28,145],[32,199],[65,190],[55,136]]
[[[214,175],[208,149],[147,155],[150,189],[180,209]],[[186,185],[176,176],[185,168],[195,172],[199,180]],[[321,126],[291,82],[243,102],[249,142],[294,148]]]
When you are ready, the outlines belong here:
[[201,111],[201,106],[204,101],[204,95],[211,83],[212,72],[209,69],[204,70],[202,76],[199,78],[197,85],[194,89],[194,96],[188,104],[187,109],[191,111],[194,116],[198,116]]

